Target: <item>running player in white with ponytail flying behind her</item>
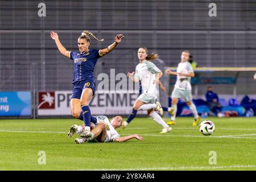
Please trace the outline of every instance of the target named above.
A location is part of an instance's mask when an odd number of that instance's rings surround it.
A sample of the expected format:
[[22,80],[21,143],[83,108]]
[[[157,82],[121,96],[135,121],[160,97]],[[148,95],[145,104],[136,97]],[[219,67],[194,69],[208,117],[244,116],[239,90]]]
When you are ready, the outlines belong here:
[[126,127],[129,124],[129,122],[136,116],[138,110],[148,110],[148,115],[163,127],[163,130],[160,133],[171,131],[171,127],[168,126],[160,115],[154,111],[154,105],[159,94],[158,82],[163,73],[154,63],[148,60],[153,60],[157,57],[157,54],[148,55],[146,47],[138,49],[139,64],[136,67],[135,75],[134,72],[128,73],[128,77],[135,82],[141,81],[143,93],[135,101],[133,111],[127,118],[127,121],[123,122],[123,127]]

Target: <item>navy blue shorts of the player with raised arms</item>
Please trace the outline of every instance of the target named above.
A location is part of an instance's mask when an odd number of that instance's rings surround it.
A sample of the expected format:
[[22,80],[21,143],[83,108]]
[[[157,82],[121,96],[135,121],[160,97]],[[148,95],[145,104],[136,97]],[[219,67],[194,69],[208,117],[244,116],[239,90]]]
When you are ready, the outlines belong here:
[[93,91],[93,96],[95,94],[96,91],[96,82],[95,81],[88,81],[88,80],[83,80],[83,81],[77,81],[75,83],[73,83],[73,92],[72,92],[72,98],[77,98],[80,99],[81,95],[82,95],[82,90],[84,90],[85,88],[91,88]]

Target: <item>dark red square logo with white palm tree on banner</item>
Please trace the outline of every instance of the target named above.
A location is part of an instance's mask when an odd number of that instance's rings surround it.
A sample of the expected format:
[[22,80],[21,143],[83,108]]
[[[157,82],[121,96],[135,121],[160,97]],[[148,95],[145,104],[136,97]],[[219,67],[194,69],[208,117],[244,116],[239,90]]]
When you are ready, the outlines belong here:
[[38,109],[55,109],[55,92],[39,92]]

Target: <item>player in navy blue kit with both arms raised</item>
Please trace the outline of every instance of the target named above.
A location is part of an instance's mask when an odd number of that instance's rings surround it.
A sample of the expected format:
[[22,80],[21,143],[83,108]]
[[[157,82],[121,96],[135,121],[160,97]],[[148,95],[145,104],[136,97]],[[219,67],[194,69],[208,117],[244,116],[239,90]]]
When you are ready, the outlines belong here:
[[[51,38],[55,40],[60,53],[74,61],[74,80],[72,82],[73,92],[71,97],[71,113],[73,117],[84,120],[85,135],[90,134],[91,113],[88,106],[90,100],[96,91],[96,82],[94,81],[94,66],[98,58],[111,52],[124,36],[118,34],[114,38],[114,43],[104,49],[89,49],[90,38],[98,40],[91,32],[84,31],[78,39],[79,52],[67,51],[61,44],[56,32],[51,31]],[[98,40],[102,42],[104,39]]]

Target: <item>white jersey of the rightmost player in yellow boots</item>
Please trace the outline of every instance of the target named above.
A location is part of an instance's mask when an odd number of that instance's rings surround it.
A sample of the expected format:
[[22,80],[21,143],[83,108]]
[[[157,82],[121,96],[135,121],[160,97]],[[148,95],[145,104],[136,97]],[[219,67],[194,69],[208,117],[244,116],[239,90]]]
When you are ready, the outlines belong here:
[[[181,62],[178,64],[177,67],[177,73],[184,73],[184,74],[188,74],[193,72],[193,68],[191,66],[191,64],[188,61],[185,62]],[[191,90],[191,77],[187,77],[187,76],[179,76],[177,75],[177,80],[175,83],[175,88],[181,89],[181,90]]]

